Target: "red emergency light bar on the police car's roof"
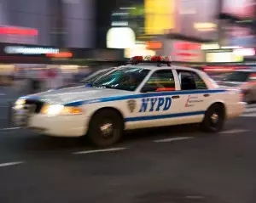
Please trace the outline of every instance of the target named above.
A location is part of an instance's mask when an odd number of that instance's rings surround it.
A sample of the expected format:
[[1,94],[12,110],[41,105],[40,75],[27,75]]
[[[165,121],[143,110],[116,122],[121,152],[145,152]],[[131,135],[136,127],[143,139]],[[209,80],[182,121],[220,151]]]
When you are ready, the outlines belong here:
[[141,63],[156,63],[157,66],[166,64],[171,66],[172,58],[170,56],[134,56],[130,59],[131,65],[137,65]]

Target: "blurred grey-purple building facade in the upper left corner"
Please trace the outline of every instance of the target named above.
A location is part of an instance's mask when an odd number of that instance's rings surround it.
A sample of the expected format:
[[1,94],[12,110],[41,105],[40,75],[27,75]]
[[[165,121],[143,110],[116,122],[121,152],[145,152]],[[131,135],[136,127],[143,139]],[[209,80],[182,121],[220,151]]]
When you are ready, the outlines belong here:
[[1,0],[0,25],[38,30],[39,45],[95,46],[93,0]]

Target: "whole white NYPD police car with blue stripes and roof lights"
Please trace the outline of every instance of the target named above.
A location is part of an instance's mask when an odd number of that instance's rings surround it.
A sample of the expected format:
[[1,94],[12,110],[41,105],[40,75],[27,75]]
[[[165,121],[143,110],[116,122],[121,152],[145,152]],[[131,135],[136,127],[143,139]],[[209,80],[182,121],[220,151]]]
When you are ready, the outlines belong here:
[[16,126],[58,137],[88,136],[107,147],[124,131],[201,123],[218,132],[245,108],[237,89],[218,87],[201,70],[171,64],[169,57],[137,56],[96,80],[21,97],[13,107]]

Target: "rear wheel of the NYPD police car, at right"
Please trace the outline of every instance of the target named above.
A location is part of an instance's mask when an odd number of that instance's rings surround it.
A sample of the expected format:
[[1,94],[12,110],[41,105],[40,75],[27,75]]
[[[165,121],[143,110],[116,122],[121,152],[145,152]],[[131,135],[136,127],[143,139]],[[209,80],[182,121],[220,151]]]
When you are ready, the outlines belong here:
[[222,104],[212,104],[205,113],[201,128],[207,133],[217,133],[224,127],[225,112]]

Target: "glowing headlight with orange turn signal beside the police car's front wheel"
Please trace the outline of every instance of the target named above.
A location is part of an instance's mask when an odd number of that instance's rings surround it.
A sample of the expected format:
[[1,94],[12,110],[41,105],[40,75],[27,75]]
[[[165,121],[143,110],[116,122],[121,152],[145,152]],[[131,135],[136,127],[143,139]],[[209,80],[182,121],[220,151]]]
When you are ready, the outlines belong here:
[[80,107],[70,107],[61,104],[49,104],[44,105],[43,109],[41,110],[41,113],[49,116],[77,115],[82,114],[83,110]]

